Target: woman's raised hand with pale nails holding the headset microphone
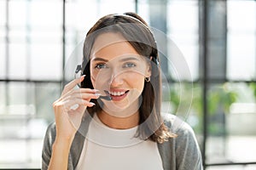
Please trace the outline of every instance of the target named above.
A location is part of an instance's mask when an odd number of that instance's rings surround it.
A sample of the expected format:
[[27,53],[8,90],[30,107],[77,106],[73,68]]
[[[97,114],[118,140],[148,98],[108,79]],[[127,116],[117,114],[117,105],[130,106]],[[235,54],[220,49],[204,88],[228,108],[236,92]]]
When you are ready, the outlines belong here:
[[57,99],[54,104],[56,139],[72,141],[75,133],[79,129],[82,117],[86,107],[95,105],[90,99],[97,99],[96,89],[74,87],[83,82],[85,76],[74,79],[69,82],[62,91],[61,98]]

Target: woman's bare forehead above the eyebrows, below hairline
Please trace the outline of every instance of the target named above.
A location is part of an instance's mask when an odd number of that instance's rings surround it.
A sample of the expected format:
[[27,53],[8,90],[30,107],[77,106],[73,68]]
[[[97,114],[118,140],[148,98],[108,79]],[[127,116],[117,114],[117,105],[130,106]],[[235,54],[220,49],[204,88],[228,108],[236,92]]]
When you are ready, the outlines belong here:
[[137,54],[135,48],[119,33],[103,33],[96,37],[91,50],[91,59],[95,57],[113,59],[119,56]]

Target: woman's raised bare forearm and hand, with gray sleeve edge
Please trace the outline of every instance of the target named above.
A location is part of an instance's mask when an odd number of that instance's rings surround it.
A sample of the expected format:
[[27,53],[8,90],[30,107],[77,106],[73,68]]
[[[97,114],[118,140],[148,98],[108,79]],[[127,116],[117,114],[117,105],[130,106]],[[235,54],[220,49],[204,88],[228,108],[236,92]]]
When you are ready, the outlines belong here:
[[[84,111],[90,99],[97,99],[96,90],[73,89],[84,77],[69,82],[54,104],[55,126],[50,126],[44,138],[42,169],[67,169],[68,156],[74,136],[81,124]],[[73,105],[78,107],[73,110]]]

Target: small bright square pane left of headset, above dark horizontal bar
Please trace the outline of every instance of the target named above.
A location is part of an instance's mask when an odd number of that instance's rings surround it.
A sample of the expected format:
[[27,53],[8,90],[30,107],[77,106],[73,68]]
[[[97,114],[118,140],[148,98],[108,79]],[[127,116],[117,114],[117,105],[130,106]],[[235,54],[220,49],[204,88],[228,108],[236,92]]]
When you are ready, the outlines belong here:
[[62,54],[59,43],[32,43],[30,75],[32,79],[61,80]]

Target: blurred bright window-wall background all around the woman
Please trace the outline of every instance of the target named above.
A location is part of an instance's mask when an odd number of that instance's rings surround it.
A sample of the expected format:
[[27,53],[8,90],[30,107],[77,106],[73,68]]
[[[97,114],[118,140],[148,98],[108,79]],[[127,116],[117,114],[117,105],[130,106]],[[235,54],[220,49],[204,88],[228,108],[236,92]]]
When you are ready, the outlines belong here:
[[[96,20],[127,11],[167,37],[158,41],[170,87],[164,102],[174,114],[189,104],[184,120],[195,130],[205,169],[256,169],[253,0],[0,0],[0,168],[41,167],[69,56]],[[173,42],[189,78],[172,68]]]

